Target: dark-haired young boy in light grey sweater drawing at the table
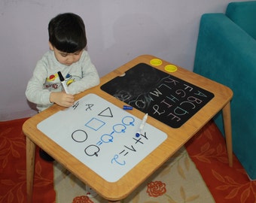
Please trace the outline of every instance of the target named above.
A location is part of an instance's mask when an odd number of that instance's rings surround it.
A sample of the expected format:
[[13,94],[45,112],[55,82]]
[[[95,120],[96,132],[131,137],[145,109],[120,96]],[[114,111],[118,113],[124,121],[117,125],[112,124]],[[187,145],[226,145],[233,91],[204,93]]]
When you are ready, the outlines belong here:
[[[50,50],[35,66],[32,78],[26,87],[26,98],[44,111],[53,103],[71,107],[74,95],[99,84],[99,75],[84,48],[87,45],[84,22],[76,14],[59,14],[48,25]],[[62,89],[58,72],[68,86]],[[41,158],[53,159],[40,150]]]

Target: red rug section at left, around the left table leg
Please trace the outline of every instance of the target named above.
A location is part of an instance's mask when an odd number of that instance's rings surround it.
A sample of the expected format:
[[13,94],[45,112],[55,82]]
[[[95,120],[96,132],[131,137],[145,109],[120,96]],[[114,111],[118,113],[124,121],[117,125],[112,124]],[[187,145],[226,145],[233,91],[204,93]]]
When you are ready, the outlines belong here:
[[[0,202],[26,201],[26,137],[22,126],[27,119],[0,122]],[[33,202],[53,203],[53,164],[35,153]]]

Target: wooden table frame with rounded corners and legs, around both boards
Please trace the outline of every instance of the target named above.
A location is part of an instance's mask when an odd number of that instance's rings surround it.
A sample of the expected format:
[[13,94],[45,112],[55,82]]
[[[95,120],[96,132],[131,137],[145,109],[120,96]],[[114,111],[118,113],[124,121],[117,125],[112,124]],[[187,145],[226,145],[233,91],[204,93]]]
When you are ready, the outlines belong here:
[[[125,71],[133,68],[133,66],[139,63],[150,64],[151,59],[155,59],[155,56],[143,55],[125,65],[120,66],[111,73],[105,75],[101,78],[99,86],[93,87],[75,95],[75,99],[82,98],[84,95],[89,93],[94,93],[96,95],[105,98],[108,102],[113,103],[117,107],[122,108],[125,105],[123,102],[114,98],[108,93],[103,92],[100,86],[107,83],[109,80],[123,74]],[[162,59],[161,59],[162,60]],[[154,68],[158,68],[164,71],[164,67],[169,65],[169,62],[162,60],[162,65],[151,65]],[[145,157],[138,165],[136,165],[127,174],[117,180],[117,182],[110,183],[92,171],[87,165],[81,163],[78,159],[68,153],[65,149],[60,147],[58,144],[53,142],[50,138],[44,135],[41,131],[37,129],[37,124],[42,120],[47,119],[51,115],[55,114],[57,111],[61,111],[64,108],[53,105],[40,114],[26,120],[23,124],[23,132],[26,135],[26,179],[27,179],[27,199],[28,202],[32,202],[32,188],[34,180],[34,170],[35,170],[35,144],[45,150],[50,156],[53,156],[57,162],[61,163],[70,172],[75,174],[84,183],[90,185],[99,195],[103,198],[111,201],[120,201],[126,198],[133,192],[136,187],[143,183],[160,165],[163,165],[167,159],[169,159],[180,147],[182,147],[192,136],[194,136],[209,120],[212,119],[219,111],[222,110],[224,117],[224,129],[227,143],[227,154],[229,165],[233,165],[233,151],[232,151],[232,135],[231,135],[231,119],[230,119],[230,100],[233,97],[233,92],[227,86],[216,83],[215,81],[209,80],[206,77],[202,77],[194,72],[187,71],[179,66],[178,70],[172,72],[175,77],[181,78],[188,83],[192,83],[195,86],[199,86],[209,92],[214,93],[215,97],[207,103],[200,111],[197,112],[190,120],[187,120],[180,128],[173,129],[166,124],[155,120],[153,117],[148,117],[147,123],[152,126],[156,126],[158,129],[162,130],[168,135],[165,141],[160,144],[152,153]],[[130,111],[130,114],[135,115],[142,119],[144,113],[137,109]],[[178,136],[175,136],[178,135]],[[84,175],[86,171],[86,175]]]

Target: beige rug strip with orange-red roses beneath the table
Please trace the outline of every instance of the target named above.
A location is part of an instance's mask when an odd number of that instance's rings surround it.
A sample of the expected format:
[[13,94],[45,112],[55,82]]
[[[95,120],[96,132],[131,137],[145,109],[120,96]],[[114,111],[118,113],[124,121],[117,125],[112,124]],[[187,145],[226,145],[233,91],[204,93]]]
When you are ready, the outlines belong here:
[[[54,164],[54,183],[58,203],[108,202],[99,195],[89,198],[92,195],[84,183],[58,163]],[[206,199],[215,202],[183,147],[122,202],[205,202]]]

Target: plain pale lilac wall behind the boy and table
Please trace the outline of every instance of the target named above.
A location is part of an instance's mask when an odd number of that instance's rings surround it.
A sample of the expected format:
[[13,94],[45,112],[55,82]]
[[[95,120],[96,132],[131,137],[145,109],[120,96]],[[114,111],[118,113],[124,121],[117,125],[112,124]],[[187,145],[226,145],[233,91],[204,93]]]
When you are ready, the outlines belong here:
[[48,50],[47,23],[56,14],[69,11],[83,17],[87,50],[100,76],[142,54],[192,70],[200,16],[224,12],[228,2],[231,1],[1,1],[0,120],[36,114],[24,92],[35,63]]

